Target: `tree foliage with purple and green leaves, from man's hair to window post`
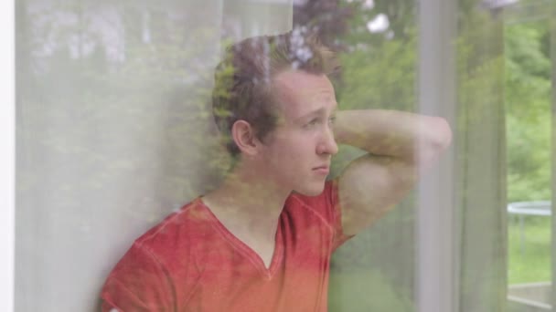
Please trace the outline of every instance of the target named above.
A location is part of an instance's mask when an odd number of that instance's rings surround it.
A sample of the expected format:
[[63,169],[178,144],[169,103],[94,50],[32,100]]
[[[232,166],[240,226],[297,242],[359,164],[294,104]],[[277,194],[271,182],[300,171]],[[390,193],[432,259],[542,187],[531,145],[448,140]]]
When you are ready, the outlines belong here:
[[[342,78],[337,97],[343,109],[413,109],[415,25],[413,2],[308,1],[296,7],[294,24],[315,27],[325,42],[341,50]],[[367,23],[386,14],[389,30],[372,34]],[[391,31],[393,36],[386,36]]]

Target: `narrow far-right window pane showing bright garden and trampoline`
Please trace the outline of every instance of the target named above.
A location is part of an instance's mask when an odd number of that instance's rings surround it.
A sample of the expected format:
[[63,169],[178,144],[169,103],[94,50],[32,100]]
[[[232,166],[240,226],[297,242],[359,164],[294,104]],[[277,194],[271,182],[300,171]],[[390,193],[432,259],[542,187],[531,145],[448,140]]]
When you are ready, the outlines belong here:
[[508,300],[551,308],[551,4],[508,10],[505,102],[508,163]]

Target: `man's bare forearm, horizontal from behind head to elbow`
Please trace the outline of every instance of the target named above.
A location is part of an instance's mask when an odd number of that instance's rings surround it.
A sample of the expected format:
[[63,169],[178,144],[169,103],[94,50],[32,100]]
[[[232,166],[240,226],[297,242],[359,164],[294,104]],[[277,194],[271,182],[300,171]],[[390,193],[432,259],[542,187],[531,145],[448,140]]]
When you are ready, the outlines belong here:
[[444,119],[398,110],[338,111],[334,132],[339,144],[404,161],[426,161],[452,140]]

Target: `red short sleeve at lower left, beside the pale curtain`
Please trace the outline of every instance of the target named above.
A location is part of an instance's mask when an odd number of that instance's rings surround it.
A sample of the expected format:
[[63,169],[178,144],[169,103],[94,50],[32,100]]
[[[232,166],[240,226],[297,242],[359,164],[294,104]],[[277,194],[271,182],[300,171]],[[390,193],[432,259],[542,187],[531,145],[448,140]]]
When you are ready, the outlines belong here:
[[175,302],[170,280],[155,256],[135,243],[102,287],[102,311],[169,311]]

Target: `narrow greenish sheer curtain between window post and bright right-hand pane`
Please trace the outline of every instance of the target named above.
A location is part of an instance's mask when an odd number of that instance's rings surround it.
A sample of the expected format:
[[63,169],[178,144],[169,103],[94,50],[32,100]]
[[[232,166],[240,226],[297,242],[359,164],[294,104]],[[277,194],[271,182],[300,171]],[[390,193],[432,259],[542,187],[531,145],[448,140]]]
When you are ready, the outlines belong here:
[[503,18],[487,2],[462,1],[457,37],[454,209],[459,308],[507,307],[506,133]]

